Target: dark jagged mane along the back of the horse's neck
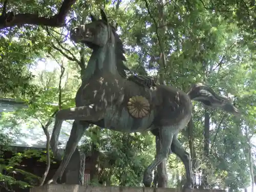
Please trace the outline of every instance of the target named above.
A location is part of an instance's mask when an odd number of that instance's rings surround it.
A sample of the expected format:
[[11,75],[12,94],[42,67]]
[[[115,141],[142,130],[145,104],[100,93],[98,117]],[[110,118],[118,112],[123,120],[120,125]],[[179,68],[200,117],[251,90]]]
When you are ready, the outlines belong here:
[[116,33],[117,29],[110,25],[110,28],[112,30],[112,33],[114,34],[115,42],[116,42],[116,68],[118,73],[123,77],[126,78],[127,75],[125,71],[130,71],[130,69],[124,64],[124,61],[126,61],[125,56],[123,55],[125,53],[123,48],[123,42],[121,41],[119,35]]

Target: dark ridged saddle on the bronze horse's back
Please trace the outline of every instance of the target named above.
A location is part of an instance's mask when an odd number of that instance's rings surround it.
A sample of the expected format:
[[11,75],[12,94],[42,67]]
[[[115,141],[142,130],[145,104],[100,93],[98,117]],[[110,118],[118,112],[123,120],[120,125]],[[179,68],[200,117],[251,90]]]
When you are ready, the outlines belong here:
[[137,83],[139,86],[151,88],[152,86],[156,86],[156,79],[151,76],[146,75],[131,75],[127,78],[129,81],[133,81]]

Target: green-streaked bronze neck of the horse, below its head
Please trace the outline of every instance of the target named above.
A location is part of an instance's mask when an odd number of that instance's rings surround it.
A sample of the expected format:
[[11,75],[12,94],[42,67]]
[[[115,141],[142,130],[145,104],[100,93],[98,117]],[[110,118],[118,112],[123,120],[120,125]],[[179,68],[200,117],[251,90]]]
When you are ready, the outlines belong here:
[[[113,34],[112,34],[113,35]],[[88,61],[83,81],[88,81],[95,73],[103,71],[104,73],[118,74],[116,69],[116,44],[114,36],[110,42],[107,42],[104,47],[93,50],[93,53]]]

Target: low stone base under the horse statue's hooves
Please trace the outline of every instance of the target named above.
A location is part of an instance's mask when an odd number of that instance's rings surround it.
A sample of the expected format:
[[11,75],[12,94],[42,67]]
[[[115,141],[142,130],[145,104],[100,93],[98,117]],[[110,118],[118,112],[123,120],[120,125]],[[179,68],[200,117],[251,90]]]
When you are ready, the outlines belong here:
[[[176,188],[93,187],[82,185],[50,184],[30,189],[30,192],[183,192]],[[186,189],[184,192],[225,192],[225,190]]]

